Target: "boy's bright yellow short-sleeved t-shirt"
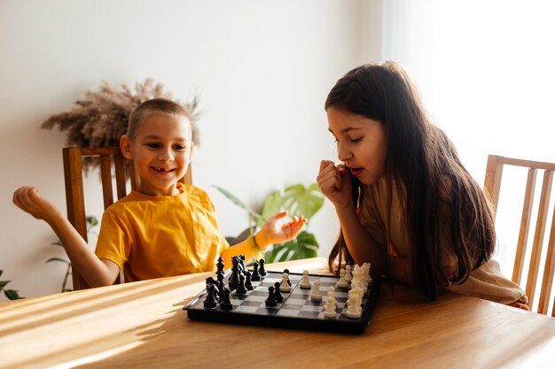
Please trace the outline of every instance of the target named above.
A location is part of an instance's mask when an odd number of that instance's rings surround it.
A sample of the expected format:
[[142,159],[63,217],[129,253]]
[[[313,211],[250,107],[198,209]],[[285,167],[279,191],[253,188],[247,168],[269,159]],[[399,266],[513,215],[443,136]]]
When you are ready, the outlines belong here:
[[178,183],[176,196],[132,191],[102,216],[95,254],[123,268],[127,281],[209,272],[229,243],[214,204],[200,188]]

